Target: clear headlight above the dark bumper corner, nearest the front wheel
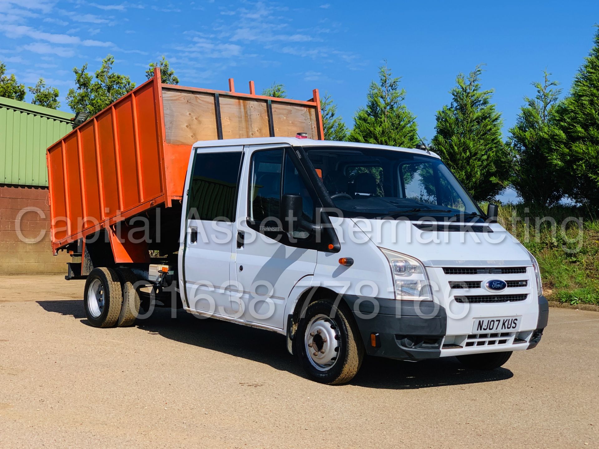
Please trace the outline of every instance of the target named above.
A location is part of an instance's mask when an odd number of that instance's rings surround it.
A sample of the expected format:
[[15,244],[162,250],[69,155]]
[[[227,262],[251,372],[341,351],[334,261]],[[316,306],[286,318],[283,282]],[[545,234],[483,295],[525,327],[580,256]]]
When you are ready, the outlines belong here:
[[379,249],[383,251],[391,265],[395,299],[432,301],[431,286],[424,265],[418,259],[385,248]]

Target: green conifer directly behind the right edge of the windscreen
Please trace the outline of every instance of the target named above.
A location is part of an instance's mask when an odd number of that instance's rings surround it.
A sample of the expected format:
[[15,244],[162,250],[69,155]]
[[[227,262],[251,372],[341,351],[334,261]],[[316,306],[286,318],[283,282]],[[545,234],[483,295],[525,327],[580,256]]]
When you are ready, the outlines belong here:
[[432,147],[477,201],[494,199],[507,185],[509,158],[501,140],[501,113],[482,90],[482,65],[459,74],[452,102],[437,111]]

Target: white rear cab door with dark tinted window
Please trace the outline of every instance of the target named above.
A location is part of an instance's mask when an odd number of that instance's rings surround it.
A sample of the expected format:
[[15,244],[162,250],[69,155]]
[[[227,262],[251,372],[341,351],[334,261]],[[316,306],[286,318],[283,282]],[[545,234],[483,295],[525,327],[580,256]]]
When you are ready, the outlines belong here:
[[187,180],[183,282],[189,308],[234,316],[231,260],[235,251],[243,146],[197,148]]

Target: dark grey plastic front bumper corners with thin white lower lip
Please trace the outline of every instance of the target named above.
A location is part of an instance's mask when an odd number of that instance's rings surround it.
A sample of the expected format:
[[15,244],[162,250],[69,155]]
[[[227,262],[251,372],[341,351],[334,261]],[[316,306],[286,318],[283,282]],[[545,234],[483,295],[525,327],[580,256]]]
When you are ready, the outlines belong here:
[[[443,348],[447,333],[446,310],[435,302],[395,301],[381,298],[346,298],[371,356],[401,360],[435,359],[459,353],[481,353],[532,349],[539,344],[547,326],[549,305],[539,296],[537,327],[531,332],[528,344],[497,348]],[[374,343],[374,345],[373,345]]]

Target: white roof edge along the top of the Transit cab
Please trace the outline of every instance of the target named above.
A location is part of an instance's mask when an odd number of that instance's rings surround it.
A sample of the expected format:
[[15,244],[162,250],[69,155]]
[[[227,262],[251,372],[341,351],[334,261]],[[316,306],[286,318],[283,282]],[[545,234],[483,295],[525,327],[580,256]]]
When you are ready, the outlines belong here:
[[338,142],[332,140],[299,139],[297,137],[252,137],[244,139],[200,140],[193,148],[237,147],[240,145],[279,145],[292,147],[340,147],[340,148],[377,148],[379,150],[403,151],[404,153],[422,154],[441,159],[432,151],[417,150],[416,148],[391,147],[389,145],[362,144],[359,142]]

